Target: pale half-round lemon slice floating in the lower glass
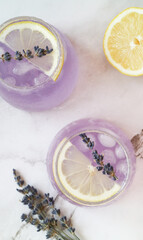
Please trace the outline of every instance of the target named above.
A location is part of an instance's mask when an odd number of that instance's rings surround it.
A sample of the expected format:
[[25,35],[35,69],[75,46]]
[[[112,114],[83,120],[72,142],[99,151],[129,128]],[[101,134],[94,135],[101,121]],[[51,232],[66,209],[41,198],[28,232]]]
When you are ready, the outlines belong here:
[[61,191],[62,188],[65,189],[66,195],[71,199],[73,197],[77,202],[103,202],[118,193],[121,188],[108,176],[97,171],[91,161],[70,141],[66,142],[66,139],[55,151],[53,173]]

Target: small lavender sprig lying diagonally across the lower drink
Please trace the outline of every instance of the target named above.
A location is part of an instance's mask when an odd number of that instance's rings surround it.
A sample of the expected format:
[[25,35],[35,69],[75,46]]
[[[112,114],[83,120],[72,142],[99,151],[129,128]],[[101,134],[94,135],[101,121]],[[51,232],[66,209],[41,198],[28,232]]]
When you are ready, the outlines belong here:
[[[85,133],[81,133],[79,135],[82,138],[82,141],[86,143],[87,147],[90,150],[93,150],[94,148],[94,142],[90,140],[90,138],[87,137]],[[117,180],[117,176],[115,175],[115,171],[113,166],[111,166],[110,163],[104,164],[104,155],[99,154],[97,150],[94,150],[92,152],[93,159],[97,163],[98,166],[96,166],[98,171],[102,171],[103,174],[107,174],[110,178],[112,178],[114,181]]]

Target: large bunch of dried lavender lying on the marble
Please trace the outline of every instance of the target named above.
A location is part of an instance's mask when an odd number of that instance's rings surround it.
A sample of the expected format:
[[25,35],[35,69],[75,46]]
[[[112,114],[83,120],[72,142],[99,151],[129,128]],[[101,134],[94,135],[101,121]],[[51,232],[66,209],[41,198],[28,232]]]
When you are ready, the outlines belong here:
[[37,232],[45,231],[47,239],[80,240],[67,217],[61,216],[60,209],[55,207],[55,200],[49,193],[42,195],[33,186],[25,185],[15,169],[13,175],[16,183],[21,187],[17,191],[24,195],[21,202],[30,209],[29,214],[21,215],[22,221],[34,225]]

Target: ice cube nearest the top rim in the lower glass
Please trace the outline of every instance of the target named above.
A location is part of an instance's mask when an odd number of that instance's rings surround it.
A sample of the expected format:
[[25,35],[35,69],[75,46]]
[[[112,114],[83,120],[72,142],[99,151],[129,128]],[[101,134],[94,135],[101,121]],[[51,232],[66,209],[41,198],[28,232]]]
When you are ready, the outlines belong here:
[[106,134],[98,134],[98,139],[104,147],[114,147],[116,144],[116,141]]

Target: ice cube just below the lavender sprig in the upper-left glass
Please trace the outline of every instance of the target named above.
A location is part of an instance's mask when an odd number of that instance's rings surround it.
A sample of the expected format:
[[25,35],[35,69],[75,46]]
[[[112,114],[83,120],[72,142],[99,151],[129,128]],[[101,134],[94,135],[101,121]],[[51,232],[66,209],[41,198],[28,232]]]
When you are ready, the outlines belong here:
[[23,75],[32,69],[35,69],[35,67],[31,63],[25,62],[24,60],[19,62],[16,60],[13,68],[13,73],[16,75]]

